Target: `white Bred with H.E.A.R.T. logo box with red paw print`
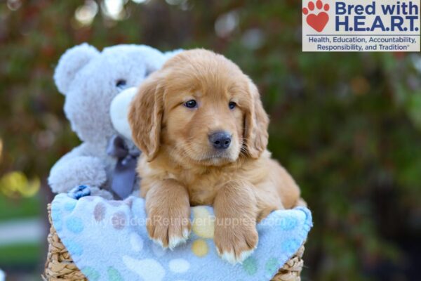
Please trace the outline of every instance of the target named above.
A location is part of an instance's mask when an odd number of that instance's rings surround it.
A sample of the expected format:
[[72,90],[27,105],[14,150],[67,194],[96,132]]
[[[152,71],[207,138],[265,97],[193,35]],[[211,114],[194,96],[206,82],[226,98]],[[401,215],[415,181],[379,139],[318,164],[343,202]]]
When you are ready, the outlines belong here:
[[303,0],[302,51],[420,51],[420,0]]

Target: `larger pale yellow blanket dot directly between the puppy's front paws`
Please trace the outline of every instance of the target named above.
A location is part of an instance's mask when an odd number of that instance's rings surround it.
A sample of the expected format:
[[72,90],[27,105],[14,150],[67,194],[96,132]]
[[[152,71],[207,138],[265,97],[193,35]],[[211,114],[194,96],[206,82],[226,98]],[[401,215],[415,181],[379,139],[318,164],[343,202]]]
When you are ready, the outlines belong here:
[[192,230],[196,235],[203,238],[213,238],[215,230],[215,216],[212,216],[208,209],[203,206],[193,207]]

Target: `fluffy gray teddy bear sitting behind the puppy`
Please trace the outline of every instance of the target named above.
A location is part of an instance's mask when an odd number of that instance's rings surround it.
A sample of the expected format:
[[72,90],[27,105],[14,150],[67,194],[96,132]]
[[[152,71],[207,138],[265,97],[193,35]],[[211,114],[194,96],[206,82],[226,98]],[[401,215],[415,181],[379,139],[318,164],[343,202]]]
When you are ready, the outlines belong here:
[[[129,88],[138,86],[176,52],[161,53],[143,45],[117,45],[100,52],[81,44],[62,55],[55,68],[55,84],[65,95],[65,115],[82,143],[51,169],[48,183],[53,192],[88,185],[91,195],[123,197],[112,189],[114,173],[127,159],[133,166],[139,154],[123,108],[135,93]],[[137,183],[132,185],[126,188],[136,192]]]

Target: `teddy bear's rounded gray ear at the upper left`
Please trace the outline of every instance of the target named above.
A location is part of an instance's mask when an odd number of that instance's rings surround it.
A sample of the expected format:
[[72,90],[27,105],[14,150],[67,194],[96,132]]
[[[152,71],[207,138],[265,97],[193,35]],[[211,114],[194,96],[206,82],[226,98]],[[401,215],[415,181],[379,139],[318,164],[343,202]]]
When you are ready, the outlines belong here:
[[55,67],[54,81],[58,91],[65,95],[76,73],[99,54],[100,52],[95,47],[86,43],[69,48]]

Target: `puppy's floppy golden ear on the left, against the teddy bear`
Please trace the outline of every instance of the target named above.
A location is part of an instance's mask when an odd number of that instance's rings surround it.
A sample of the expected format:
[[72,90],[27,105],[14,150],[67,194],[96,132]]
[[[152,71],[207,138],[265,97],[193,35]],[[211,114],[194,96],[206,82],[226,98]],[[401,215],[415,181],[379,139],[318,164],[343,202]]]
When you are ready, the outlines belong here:
[[159,73],[143,81],[131,102],[128,123],[138,148],[152,161],[159,151],[161,119],[163,114],[163,84]]

